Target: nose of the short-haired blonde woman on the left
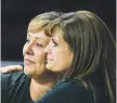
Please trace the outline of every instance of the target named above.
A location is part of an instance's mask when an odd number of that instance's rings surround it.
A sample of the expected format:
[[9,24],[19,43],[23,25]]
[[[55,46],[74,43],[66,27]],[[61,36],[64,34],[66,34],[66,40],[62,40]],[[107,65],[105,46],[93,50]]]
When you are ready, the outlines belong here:
[[28,43],[26,42],[24,46],[24,49],[23,49],[23,55],[25,55],[25,54],[32,55],[34,54],[32,46],[34,46],[34,42],[28,42]]

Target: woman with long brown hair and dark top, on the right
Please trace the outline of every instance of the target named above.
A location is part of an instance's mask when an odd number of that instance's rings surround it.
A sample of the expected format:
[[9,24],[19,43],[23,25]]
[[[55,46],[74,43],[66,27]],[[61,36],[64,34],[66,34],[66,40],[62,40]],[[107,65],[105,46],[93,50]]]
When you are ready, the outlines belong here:
[[52,21],[46,48],[47,69],[63,73],[63,80],[43,103],[115,103],[115,40],[95,14],[78,11]]

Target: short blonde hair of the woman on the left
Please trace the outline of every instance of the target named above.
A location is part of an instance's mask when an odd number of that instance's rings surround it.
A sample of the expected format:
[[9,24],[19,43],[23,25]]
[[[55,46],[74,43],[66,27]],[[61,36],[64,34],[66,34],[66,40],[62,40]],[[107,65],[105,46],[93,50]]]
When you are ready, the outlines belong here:
[[40,15],[37,15],[36,17],[34,17],[29,25],[28,25],[28,33],[37,33],[40,29],[44,29],[46,26],[53,21],[54,18],[58,17],[60,15],[62,15],[63,13],[60,12],[47,12]]

